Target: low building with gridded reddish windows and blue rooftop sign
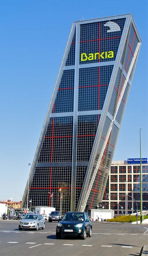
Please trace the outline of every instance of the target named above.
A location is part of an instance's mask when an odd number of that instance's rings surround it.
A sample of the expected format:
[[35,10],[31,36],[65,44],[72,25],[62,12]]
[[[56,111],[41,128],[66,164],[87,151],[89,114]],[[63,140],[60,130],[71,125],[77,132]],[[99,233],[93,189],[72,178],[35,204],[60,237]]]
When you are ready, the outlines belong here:
[[[135,201],[137,202],[137,206]],[[103,195],[104,209],[113,209],[114,215],[140,211],[140,163],[112,161]],[[148,160],[142,163],[142,210],[148,210]]]

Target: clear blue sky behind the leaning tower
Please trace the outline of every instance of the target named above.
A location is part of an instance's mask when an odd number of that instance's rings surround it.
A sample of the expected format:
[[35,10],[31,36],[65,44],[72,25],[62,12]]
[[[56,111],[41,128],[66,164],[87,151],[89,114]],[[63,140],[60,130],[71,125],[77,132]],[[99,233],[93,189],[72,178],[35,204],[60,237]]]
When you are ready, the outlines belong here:
[[24,193],[73,21],[126,13],[142,47],[113,160],[140,157],[140,127],[148,157],[147,0],[0,1],[0,200]]

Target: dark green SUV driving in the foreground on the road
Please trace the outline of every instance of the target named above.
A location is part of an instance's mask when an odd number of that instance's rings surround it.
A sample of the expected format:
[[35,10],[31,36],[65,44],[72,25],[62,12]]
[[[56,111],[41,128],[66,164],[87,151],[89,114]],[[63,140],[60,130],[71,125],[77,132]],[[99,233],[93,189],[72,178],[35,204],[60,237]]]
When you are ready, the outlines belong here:
[[56,239],[61,236],[92,236],[92,224],[86,212],[67,212],[56,226]]

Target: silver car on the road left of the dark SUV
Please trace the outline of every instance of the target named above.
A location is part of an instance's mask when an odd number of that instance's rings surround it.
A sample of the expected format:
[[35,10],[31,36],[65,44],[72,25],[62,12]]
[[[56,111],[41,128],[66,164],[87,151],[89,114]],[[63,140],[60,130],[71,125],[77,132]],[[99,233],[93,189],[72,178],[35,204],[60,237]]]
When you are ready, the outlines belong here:
[[42,215],[38,214],[26,214],[23,219],[19,222],[19,230],[22,229],[45,229],[45,219]]

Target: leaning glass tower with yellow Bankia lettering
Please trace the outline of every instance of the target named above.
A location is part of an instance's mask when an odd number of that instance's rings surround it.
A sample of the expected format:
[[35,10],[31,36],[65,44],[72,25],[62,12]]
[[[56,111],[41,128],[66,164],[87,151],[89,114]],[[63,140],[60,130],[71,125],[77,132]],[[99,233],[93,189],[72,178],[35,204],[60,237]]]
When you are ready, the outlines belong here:
[[73,23],[22,207],[102,201],[140,46],[131,14]]

